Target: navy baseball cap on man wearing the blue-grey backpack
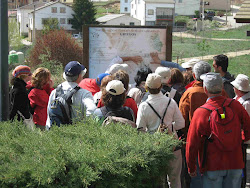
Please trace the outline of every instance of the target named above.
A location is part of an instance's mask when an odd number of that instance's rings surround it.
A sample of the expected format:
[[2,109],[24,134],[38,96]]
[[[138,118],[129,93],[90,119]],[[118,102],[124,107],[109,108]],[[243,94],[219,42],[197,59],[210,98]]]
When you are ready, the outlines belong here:
[[64,68],[65,75],[69,77],[77,76],[82,71],[86,73],[87,69],[78,61],[70,61]]

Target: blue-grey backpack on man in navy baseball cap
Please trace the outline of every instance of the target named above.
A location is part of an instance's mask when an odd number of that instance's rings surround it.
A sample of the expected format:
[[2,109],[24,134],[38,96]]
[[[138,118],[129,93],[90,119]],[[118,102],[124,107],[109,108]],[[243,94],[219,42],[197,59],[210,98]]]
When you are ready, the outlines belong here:
[[49,117],[51,125],[56,123],[58,127],[61,124],[72,124],[71,105],[72,96],[80,89],[76,86],[71,91],[64,93],[62,85],[56,88],[55,99],[49,104]]

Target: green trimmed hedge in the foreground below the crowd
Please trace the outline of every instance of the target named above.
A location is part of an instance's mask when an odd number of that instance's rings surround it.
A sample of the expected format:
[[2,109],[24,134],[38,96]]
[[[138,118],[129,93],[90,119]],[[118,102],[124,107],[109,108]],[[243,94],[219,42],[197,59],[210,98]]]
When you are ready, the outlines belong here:
[[179,144],[92,119],[45,132],[1,122],[0,132],[0,187],[156,187]]

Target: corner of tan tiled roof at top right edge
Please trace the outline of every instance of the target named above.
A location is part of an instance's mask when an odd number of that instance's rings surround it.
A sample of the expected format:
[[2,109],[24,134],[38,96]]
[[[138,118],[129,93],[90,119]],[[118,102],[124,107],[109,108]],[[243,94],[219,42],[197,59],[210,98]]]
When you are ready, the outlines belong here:
[[243,2],[234,19],[236,23],[250,23],[250,0]]

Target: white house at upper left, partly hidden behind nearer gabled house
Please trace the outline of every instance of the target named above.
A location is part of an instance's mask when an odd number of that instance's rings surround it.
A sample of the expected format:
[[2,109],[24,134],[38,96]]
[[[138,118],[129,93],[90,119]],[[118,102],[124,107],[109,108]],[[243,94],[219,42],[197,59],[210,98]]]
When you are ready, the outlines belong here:
[[31,13],[34,8],[39,8],[44,6],[46,3],[35,2],[31,3],[17,9],[17,23],[19,26],[19,33],[24,36],[28,36],[29,32],[29,13]]

